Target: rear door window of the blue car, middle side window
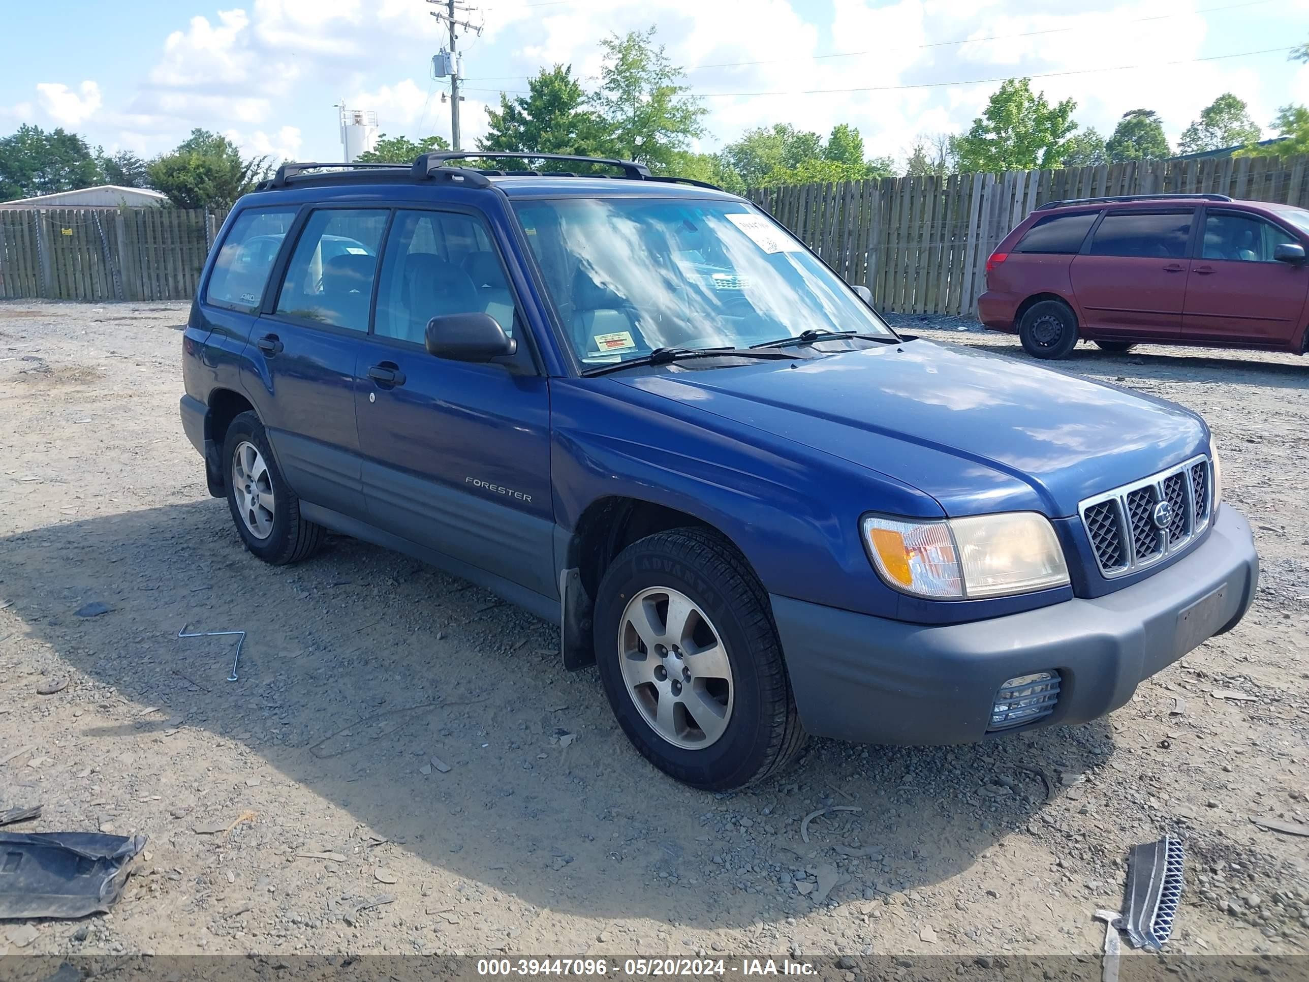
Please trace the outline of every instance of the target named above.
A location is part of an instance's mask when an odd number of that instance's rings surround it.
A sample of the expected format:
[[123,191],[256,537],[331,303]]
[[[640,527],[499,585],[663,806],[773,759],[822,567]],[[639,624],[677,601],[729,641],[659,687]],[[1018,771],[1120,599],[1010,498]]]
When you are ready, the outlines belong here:
[[305,223],[278,293],[278,313],[368,330],[385,209],[323,208]]

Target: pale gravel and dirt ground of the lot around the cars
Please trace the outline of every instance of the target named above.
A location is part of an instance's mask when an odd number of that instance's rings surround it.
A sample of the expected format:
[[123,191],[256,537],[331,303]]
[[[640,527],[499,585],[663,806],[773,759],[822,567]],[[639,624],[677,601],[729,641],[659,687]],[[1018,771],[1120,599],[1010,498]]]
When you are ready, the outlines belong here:
[[[814,741],[708,795],[644,763],[594,670],[490,593],[348,538],[295,567],[246,554],[178,422],[185,317],[0,304],[0,810],[149,837],[113,913],[0,924],[0,953],[1085,953],[1127,848],[1162,831],[1187,846],[1173,951],[1309,943],[1309,839],[1251,822],[1309,812],[1302,360],[1068,363],[1213,426],[1263,556],[1236,631],[1093,724]],[[232,639],[186,626],[249,631],[240,681]]]

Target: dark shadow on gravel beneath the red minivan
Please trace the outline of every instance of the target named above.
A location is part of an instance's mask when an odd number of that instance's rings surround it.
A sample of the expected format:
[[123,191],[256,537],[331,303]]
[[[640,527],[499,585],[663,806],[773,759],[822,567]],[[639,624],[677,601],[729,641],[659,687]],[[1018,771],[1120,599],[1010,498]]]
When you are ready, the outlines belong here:
[[[952,342],[953,338],[933,338],[932,340]],[[992,355],[1008,355],[1024,361],[1038,361],[1022,350],[1017,339],[978,343],[969,342],[970,350],[980,350]],[[1223,357],[1215,355],[1173,355],[1162,346],[1147,346],[1144,351],[1126,354],[1101,351],[1090,344],[1079,344],[1068,357],[1059,361],[1039,361],[1046,368],[1066,372],[1092,373],[1096,376],[1123,376],[1147,382],[1246,382],[1266,385],[1274,389],[1309,389],[1309,357],[1299,361],[1255,361],[1244,357]],[[1295,357],[1295,356],[1287,356]],[[1199,373],[1204,374],[1199,374]],[[1110,377],[1109,381],[1113,381]]]

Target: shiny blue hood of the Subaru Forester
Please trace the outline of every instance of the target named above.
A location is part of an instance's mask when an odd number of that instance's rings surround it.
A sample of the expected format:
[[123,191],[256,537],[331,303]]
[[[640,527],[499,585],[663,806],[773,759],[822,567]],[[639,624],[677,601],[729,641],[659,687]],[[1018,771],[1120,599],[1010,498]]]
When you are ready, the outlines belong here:
[[1075,515],[1208,445],[1181,406],[928,340],[617,381],[891,475],[952,516]]

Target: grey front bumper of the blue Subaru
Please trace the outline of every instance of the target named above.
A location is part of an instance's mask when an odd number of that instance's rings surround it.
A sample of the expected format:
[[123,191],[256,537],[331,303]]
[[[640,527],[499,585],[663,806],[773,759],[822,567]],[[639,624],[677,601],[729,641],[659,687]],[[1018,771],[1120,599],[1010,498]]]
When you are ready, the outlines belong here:
[[[1258,579],[1250,526],[1224,504],[1187,556],[1103,597],[949,626],[771,600],[805,729],[870,744],[939,745],[986,737],[1000,685],[1033,672],[1059,672],[1059,702],[1051,715],[1005,733],[1117,710],[1141,680],[1234,627]],[[1192,608],[1216,591],[1221,598]]]

